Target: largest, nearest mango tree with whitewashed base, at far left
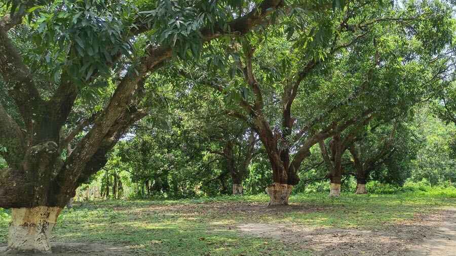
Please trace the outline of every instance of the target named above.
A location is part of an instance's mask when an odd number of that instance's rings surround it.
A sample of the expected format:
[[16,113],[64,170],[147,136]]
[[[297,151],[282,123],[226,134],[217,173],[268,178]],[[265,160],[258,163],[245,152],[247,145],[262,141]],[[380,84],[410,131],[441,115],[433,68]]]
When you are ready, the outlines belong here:
[[[0,154],[8,163],[0,173],[0,207],[12,208],[9,250],[50,252],[52,228],[69,198],[148,114],[151,73],[176,55],[199,56],[208,41],[264,25],[283,6],[281,0],[8,0],[0,75],[12,102],[0,105],[6,148]],[[84,115],[75,106],[94,89],[104,92],[103,101]],[[78,125],[68,131],[71,120]]]

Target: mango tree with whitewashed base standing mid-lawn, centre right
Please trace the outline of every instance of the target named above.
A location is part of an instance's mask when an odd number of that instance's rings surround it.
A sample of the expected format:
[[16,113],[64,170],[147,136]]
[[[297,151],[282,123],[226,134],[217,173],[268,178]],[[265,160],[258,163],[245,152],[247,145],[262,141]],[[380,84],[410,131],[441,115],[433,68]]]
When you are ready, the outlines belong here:
[[433,63],[451,40],[450,13],[439,2],[292,10],[264,35],[221,49],[230,77],[211,86],[235,102],[227,114],[248,123],[267,151],[270,205],[288,203],[313,145],[373,117],[410,111],[441,79]]

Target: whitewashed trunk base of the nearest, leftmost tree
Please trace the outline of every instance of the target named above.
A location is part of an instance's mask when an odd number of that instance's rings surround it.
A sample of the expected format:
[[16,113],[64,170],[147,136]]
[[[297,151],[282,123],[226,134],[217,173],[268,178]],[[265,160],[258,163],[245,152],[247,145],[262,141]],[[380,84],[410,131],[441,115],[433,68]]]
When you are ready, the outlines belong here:
[[8,251],[51,253],[49,237],[62,208],[13,208],[8,229]]

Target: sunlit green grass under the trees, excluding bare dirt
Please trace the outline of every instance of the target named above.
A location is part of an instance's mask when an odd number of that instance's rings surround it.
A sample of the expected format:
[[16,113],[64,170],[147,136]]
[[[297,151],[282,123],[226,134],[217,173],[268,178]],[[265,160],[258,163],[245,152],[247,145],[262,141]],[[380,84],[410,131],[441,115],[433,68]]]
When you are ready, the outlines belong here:
[[[282,241],[240,234],[242,223],[293,223],[312,227],[382,228],[456,205],[456,190],[354,195],[296,194],[290,207],[269,209],[266,195],[182,200],[108,200],[65,209],[54,241],[126,245],[148,255],[308,255]],[[9,211],[0,210],[0,243]]]

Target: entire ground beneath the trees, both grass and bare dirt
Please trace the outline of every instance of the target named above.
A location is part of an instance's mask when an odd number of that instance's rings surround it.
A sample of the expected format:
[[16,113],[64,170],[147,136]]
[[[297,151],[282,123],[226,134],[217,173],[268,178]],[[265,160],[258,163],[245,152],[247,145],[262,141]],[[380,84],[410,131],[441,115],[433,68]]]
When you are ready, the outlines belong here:
[[[106,200],[64,209],[58,255],[456,255],[456,189]],[[0,251],[10,211],[0,211]]]

